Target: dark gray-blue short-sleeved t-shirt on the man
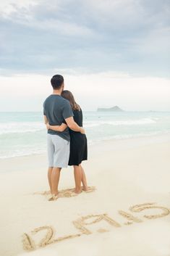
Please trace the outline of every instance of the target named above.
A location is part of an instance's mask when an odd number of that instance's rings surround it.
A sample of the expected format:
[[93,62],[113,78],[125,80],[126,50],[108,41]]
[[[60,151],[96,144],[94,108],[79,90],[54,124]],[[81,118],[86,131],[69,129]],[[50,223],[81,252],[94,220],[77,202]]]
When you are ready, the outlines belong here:
[[[73,117],[73,112],[67,99],[64,99],[58,94],[51,94],[45,102],[43,102],[43,115],[46,115],[50,125],[61,125],[61,123],[65,123],[64,120],[66,118]],[[49,129],[48,133],[59,135],[67,141],[70,140],[68,127],[61,132]]]

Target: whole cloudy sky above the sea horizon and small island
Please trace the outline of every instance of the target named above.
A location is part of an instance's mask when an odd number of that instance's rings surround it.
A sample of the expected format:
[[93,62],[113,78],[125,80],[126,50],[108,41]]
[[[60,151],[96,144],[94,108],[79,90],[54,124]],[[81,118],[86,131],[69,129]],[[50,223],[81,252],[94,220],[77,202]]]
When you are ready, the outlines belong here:
[[170,111],[169,0],[5,0],[0,30],[0,111],[40,111],[57,73],[84,110]]

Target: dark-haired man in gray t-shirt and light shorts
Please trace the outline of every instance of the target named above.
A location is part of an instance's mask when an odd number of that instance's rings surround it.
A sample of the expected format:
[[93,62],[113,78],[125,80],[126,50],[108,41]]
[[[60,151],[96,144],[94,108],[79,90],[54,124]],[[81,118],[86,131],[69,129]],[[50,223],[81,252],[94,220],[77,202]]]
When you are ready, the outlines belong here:
[[69,101],[61,96],[64,90],[63,76],[54,75],[51,78],[51,86],[53,94],[48,96],[43,103],[45,123],[61,125],[65,120],[68,125],[64,131],[60,132],[49,129],[47,135],[48,183],[52,194],[50,200],[54,200],[57,199],[61,168],[67,168],[69,162],[69,128],[80,133],[85,133],[85,131],[75,123]]

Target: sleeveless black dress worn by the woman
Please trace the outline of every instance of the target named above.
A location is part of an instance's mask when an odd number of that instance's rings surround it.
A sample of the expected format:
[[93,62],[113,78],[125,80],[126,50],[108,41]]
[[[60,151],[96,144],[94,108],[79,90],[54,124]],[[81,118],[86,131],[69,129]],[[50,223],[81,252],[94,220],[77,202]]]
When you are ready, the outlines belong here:
[[[73,110],[74,120],[82,127],[82,110]],[[80,165],[83,160],[88,160],[88,145],[85,134],[69,129],[70,154],[69,165]]]

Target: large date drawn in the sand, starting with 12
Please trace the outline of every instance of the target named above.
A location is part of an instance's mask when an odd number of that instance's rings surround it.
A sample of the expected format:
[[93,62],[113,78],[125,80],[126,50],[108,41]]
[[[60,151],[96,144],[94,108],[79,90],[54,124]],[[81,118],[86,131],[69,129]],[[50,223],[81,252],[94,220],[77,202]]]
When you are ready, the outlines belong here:
[[[75,226],[77,230],[77,234],[70,234],[67,236],[61,236],[58,238],[55,238],[54,236],[55,231],[54,228],[51,226],[42,226],[39,228],[35,228],[33,231],[31,231],[30,234],[23,234],[22,242],[23,242],[23,248],[27,251],[38,249],[38,247],[46,247],[49,244],[58,243],[59,241],[64,241],[66,239],[73,239],[78,236],[82,235],[90,235],[93,234],[93,232],[90,230],[90,226],[92,227],[95,223],[100,223],[103,221],[102,224],[109,224],[112,228],[121,228],[122,225],[132,225],[132,223],[142,223],[143,218],[145,219],[156,219],[156,218],[162,218],[166,215],[170,214],[170,209],[167,207],[156,205],[156,203],[145,203],[142,205],[134,205],[132,207],[129,207],[130,212],[126,212],[124,210],[119,210],[119,215],[121,215],[123,218],[126,219],[126,222],[121,224],[118,223],[113,218],[109,217],[106,213],[99,214],[99,215],[86,215],[81,218],[78,218],[77,220],[72,221],[73,225]],[[137,212],[141,212],[143,214],[142,217],[138,218],[135,215]],[[148,212],[148,213],[147,213]],[[151,214],[150,214],[151,212]],[[155,213],[154,213],[155,212]],[[35,234],[38,234],[41,231],[46,231],[46,234],[43,236],[43,239],[39,241],[38,243],[35,243],[33,236]],[[97,230],[99,233],[107,232],[109,230],[105,228],[99,228]],[[44,232],[43,232],[44,234]]]

